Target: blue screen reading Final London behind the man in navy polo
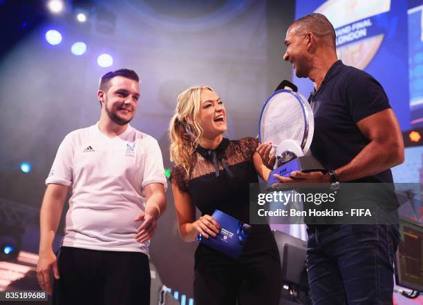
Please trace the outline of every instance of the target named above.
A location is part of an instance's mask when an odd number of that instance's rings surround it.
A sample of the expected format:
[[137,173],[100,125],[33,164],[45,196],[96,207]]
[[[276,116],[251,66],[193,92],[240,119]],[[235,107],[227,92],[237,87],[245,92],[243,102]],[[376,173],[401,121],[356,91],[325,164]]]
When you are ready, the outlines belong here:
[[[328,17],[337,33],[339,59],[368,72],[382,84],[403,130],[409,129],[412,121],[407,8],[405,0],[297,0],[295,11],[295,19],[312,12]],[[421,33],[422,27],[410,30]],[[312,91],[310,80],[292,75],[299,91],[308,97]],[[414,115],[413,120],[419,119]]]

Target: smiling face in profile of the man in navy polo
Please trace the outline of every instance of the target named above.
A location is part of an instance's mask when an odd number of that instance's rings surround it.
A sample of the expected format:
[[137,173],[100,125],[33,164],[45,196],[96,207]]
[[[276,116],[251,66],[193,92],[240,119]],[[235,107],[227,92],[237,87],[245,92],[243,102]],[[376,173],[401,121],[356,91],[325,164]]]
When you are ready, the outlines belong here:
[[297,77],[308,77],[311,57],[308,54],[306,33],[302,33],[298,26],[290,26],[286,32],[285,46],[283,60],[292,63]]

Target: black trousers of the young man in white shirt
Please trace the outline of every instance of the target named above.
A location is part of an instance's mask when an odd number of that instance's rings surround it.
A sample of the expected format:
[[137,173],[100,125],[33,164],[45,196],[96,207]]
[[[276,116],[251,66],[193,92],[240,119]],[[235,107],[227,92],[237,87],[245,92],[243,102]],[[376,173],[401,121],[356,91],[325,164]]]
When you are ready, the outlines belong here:
[[150,266],[144,253],[62,247],[55,305],[149,305]]

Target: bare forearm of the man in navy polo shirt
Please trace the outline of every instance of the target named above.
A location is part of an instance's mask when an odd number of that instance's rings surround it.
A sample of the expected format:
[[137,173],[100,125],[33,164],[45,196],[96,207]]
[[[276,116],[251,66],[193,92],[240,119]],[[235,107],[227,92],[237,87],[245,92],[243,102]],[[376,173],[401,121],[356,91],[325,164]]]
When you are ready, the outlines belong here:
[[381,173],[403,161],[404,148],[401,144],[370,141],[350,163],[335,169],[335,173],[341,182],[352,181]]

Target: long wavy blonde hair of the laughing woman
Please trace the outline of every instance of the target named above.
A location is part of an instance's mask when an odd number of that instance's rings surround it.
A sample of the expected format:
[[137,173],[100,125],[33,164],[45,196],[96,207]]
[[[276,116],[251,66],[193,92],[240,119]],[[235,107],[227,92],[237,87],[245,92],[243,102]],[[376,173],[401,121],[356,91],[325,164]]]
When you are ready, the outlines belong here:
[[209,86],[193,86],[178,95],[175,115],[169,125],[171,161],[184,168],[187,175],[191,170],[191,158],[198,139],[203,135],[203,128],[196,121],[200,110],[201,90],[214,92]]

